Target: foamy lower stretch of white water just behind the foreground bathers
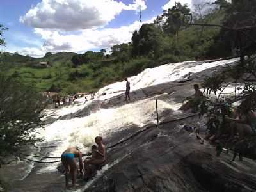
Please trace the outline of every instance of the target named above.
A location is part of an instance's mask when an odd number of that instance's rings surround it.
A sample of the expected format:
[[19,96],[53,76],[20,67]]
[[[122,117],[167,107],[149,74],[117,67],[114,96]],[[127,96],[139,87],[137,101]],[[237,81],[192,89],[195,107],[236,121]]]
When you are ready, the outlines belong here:
[[[39,136],[45,138],[43,146],[56,146],[50,156],[60,157],[61,153],[70,146],[78,146],[83,153],[87,153],[94,143],[95,136],[109,137],[115,132],[127,129],[129,125],[143,127],[149,122],[154,123],[156,119],[155,105],[154,99],[143,99],[118,108],[100,109],[96,113],[82,118],[57,120],[41,130]],[[165,109],[177,109],[177,104],[166,104],[159,100],[158,108],[161,113]],[[56,170],[57,164],[47,164],[38,173]]]

